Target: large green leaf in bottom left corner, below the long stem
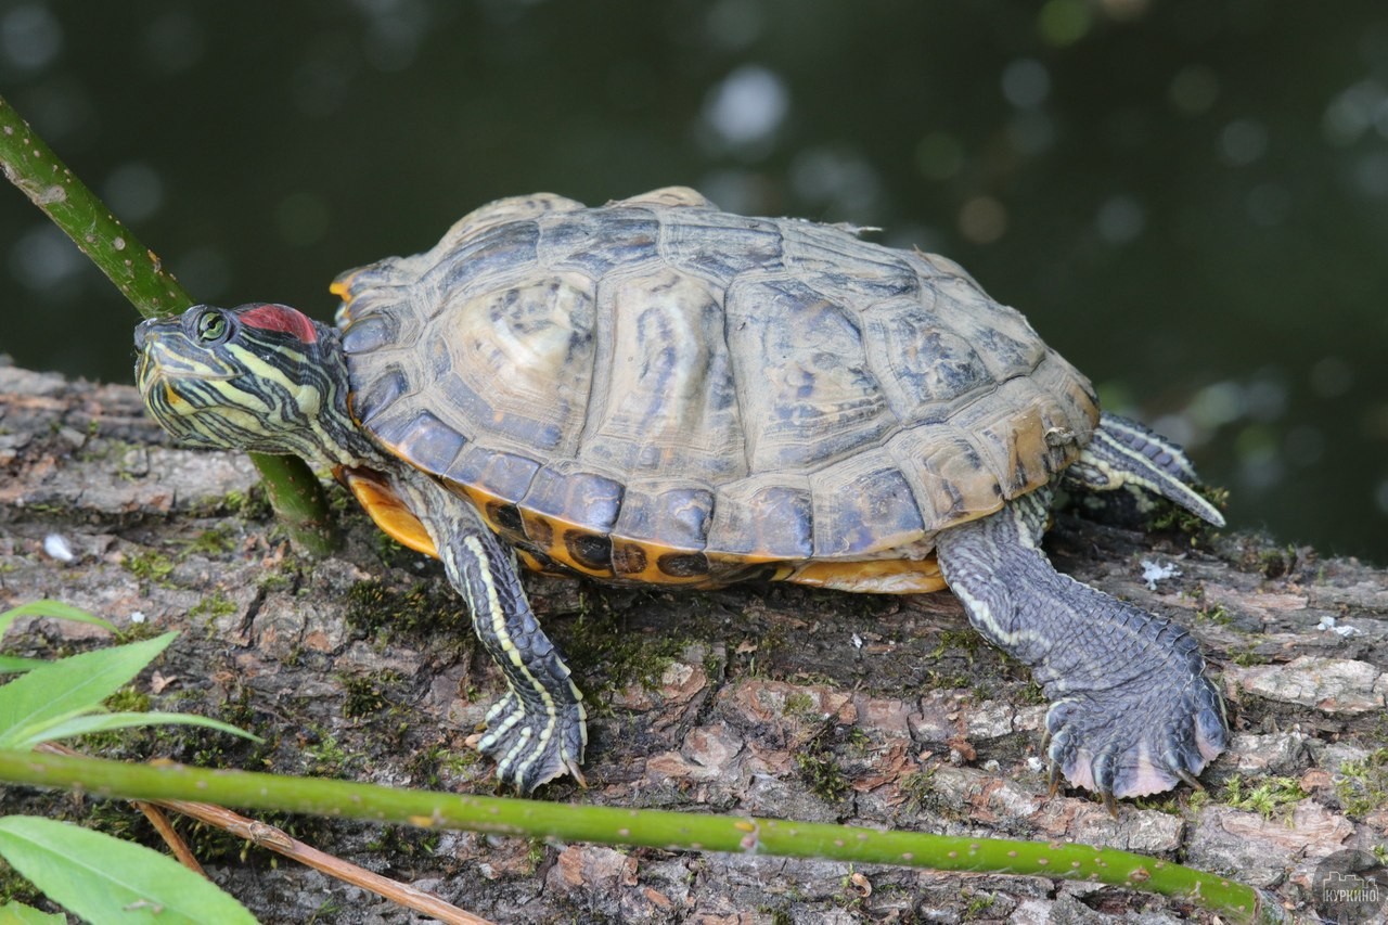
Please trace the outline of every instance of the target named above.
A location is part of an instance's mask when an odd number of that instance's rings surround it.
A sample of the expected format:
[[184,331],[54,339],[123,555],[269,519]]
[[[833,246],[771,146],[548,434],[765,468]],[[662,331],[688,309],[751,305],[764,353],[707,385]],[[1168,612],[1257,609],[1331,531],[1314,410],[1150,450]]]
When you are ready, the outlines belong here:
[[93,922],[255,922],[178,861],[71,822],[0,818],[0,854],[49,899]]

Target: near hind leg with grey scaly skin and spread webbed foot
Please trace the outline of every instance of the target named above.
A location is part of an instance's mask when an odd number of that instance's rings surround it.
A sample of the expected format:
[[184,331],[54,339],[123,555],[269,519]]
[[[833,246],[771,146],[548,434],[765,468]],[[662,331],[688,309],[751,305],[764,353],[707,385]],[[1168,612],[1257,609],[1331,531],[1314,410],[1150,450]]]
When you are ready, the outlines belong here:
[[1112,811],[1115,797],[1195,785],[1227,738],[1195,639],[1056,572],[1040,549],[1049,499],[1033,492],[941,533],[945,581],[974,629],[1029,665],[1051,699],[1052,786],[1063,774]]

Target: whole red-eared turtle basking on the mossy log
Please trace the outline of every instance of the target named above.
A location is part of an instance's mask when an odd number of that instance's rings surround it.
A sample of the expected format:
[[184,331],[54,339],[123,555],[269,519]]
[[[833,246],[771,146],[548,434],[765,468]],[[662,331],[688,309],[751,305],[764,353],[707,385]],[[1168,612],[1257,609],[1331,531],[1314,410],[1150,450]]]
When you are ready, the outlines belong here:
[[583,782],[583,694],[522,567],[608,582],[949,588],[1051,707],[1051,788],[1198,786],[1224,701],[1180,626],[1059,574],[1052,496],[1126,489],[1213,525],[1176,444],[1101,411],[954,261],[687,188],[490,203],[340,275],[336,325],[194,306],[135,335],[192,444],[297,454],[441,560],[507,689],[472,742],[529,792]]

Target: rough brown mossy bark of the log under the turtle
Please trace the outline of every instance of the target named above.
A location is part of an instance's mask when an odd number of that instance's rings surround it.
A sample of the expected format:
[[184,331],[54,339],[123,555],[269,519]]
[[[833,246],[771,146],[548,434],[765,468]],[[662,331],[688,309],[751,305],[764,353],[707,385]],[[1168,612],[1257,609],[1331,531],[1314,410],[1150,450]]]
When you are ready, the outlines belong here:
[[[122,628],[180,629],[137,690],[154,708],[266,739],[164,729],[86,750],[493,792],[490,764],[464,740],[501,681],[437,564],[384,540],[340,493],[346,549],[303,558],[257,496],[243,456],[172,446],[133,389],[0,365],[0,610],[50,597]],[[1302,911],[1323,860],[1388,843],[1388,574],[1237,529],[1192,540],[1072,512],[1058,514],[1047,551],[1199,639],[1235,729],[1205,794],[1124,801],[1117,819],[1083,792],[1048,797],[1045,704],[948,593],[679,593],[526,576],[591,717],[589,788],[565,779],[540,796],[1108,844],[1227,874]],[[1146,581],[1162,571],[1148,562],[1176,572]],[[53,621],[4,639],[7,651],[50,657],[101,642]],[[133,810],[22,789],[3,799],[4,811],[142,831]],[[275,822],[496,921],[1191,911],[1037,878]],[[243,858],[228,839],[192,840],[264,921],[411,921],[260,850]]]

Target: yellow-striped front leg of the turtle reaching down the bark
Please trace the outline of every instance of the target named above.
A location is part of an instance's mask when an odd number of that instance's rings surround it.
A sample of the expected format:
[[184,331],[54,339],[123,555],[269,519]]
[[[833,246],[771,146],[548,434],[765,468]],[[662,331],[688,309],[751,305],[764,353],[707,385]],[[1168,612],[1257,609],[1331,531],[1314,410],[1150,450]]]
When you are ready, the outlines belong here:
[[429,489],[407,490],[425,503],[428,517],[421,519],[448,581],[468,601],[472,628],[507,679],[508,692],[487,711],[477,750],[522,793],[562,774],[584,783],[580,764],[589,732],[583,693],[530,610],[515,556],[466,501],[444,489]]

